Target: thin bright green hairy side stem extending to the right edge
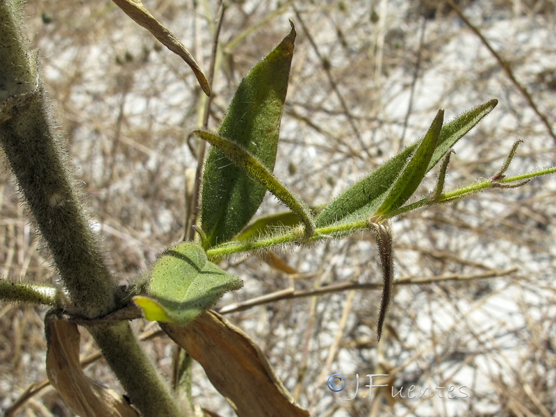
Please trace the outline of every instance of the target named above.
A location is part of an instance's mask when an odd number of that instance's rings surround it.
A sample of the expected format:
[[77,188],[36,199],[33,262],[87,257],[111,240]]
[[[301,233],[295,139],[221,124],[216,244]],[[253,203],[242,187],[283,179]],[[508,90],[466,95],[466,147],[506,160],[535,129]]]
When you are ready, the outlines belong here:
[[[471,184],[470,186],[464,186],[461,188],[457,188],[456,190],[448,191],[447,193],[442,193],[434,200],[431,200],[429,197],[425,197],[423,199],[420,199],[418,202],[407,204],[407,206],[403,206],[401,208],[398,208],[397,210],[385,213],[384,215],[380,216],[379,220],[381,222],[384,222],[389,218],[407,213],[409,211],[415,210],[416,208],[420,208],[423,206],[432,206],[434,204],[441,204],[445,202],[452,202],[457,199],[467,197],[468,195],[478,193],[482,190],[488,190],[490,188],[500,188],[499,184],[502,184],[502,186],[504,184],[511,185],[512,183],[518,183],[518,181],[524,181],[534,177],[541,177],[542,175],[553,174],[555,172],[556,167],[550,167],[544,170],[519,174],[513,177],[506,177],[504,179],[498,179],[496,181],[486,179],[484,181]],[[341,238],[343,236],[351,235],[357,231],[366,230],[368,229],[368,227],[369,221],[367,219],[356,220],[354,222],[348,223],[332,224],[327,227],[318,227],[311,238],[307,239],[306,242],[309,243],[323,239]],[[268,249],[270,247],[279,245],[299,243],[302,232],[300,230],[288,230],[289,231],[284,234],[270,236],[261,240],[254,240],[252,242],[230,242],[224,245],[216,246],[207,250],[206,255],[208,256],[208,259],[215,259],[220,256],[229,256],[231,254],[237,254],[241,252],[252,252],[256,250]]]

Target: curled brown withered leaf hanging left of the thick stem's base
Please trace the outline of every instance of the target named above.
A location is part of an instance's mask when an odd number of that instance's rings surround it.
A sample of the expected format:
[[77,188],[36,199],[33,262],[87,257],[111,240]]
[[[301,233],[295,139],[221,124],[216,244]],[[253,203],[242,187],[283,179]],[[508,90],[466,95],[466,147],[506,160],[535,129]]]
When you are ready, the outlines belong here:
[[79,363],[79,330],[74,323],[47,318],[47,376],[81,417],[138,417],[122,395],[87,377]]

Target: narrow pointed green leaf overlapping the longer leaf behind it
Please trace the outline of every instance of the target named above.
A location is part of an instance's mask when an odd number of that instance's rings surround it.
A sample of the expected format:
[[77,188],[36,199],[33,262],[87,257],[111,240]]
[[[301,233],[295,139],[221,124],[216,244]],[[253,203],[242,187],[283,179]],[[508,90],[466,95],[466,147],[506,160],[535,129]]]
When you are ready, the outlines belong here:
[[411,156],[407,165],[405,165],[400,177],[393,183],[393,186],[390,188],[389,193],[377,209],[375,215],[383,215],[401,207],[402,204],[407,202],[409,197],[415,193],[415,190],[427,173],[430,159],[432,158],[432,154],[434,154],[434,149],[439,140],[443,119],[444,111],[439,110],[425,138],[421,140],[420,145],[413,156]]

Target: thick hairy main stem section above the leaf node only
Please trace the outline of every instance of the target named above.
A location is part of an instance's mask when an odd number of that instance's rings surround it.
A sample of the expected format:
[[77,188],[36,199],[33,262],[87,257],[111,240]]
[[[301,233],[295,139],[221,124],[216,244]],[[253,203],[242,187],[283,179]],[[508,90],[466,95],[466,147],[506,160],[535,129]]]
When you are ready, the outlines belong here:
[[60,132],[26,51],[15,6],[0,1],[0,143],[46,241],[73,313],[94,318],[115,307],[115,283],[85,218]]

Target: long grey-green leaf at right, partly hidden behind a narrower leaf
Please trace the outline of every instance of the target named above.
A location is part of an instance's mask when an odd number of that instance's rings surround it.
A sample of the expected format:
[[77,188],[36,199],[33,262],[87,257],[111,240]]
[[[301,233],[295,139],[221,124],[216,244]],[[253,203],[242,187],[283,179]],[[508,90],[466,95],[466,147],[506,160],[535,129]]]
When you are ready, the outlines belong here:
[[[436,149],[427,167],[427,172],[436,165],[452,146],[485,115],[498,104],[492,99],[456,117],[442,127]],[[419,142],[414,143],[381,165],[367,177],[347,188],[332,200],[316,219],[317,227],[325,227],[336,222],[361,220],[373,215],[384,201],[386,193],[407,164],[407,159],[415,151]]]

